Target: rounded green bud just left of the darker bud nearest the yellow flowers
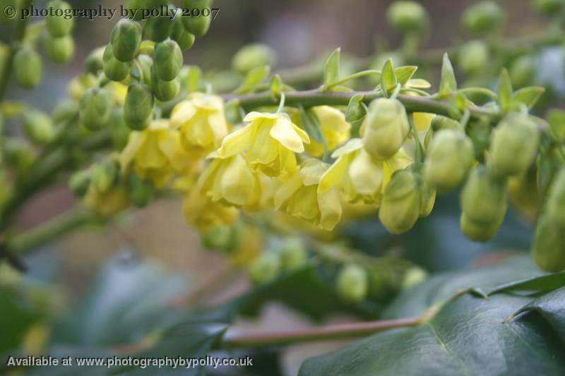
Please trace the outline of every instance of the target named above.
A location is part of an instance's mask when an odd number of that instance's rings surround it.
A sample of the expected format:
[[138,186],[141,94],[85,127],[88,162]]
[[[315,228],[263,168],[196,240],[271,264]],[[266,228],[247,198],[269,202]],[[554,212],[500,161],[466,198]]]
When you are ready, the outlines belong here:
[[110,116],[110,99],[106,90],[90,87],[81,98],[78,117],[90,131],[102,128]]

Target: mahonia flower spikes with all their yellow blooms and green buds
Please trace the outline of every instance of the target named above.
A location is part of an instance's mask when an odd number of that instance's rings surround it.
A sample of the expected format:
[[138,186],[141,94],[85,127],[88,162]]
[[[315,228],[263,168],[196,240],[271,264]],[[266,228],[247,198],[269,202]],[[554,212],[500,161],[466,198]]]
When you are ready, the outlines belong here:
[[[136,1],[126,3],[134,7]],[[563,13],[562,1],[533,3],[550,17]],[[179,11],[169,1],[143,4]],[[49,6],[69,4],[54,0]],[[183,8],[210,6],[210,0],[182,1]],[[319,248],[338,266],[336,291],[346,301],[361,301],[375,278],[363,259],[348,250],[329,252],[313,239],[338,233],[359,212],[402,234],[432,212],[437,195],[460,188],[465,236],[492,238],[512,200],[537,217],[538,265],[565,269],[565,115],[534,116],[544,88],[531,86],[533,56],[520,46],[488,42],[499,35],[504,11],[492,1],[468,8],[462,26],[472,39],[449,56],[439,54],[439,61],[437,54],[420,52],[430,28],[420,4],[396,1],[387,19],[405,36],[398,51],[379,51],[345,74],[335,49],[314,77],[322,79],[314,90],[270,75],[275,54],[262,44],[234,56],[239,86],[229,90],[184,65],[183,52],[206,34],[209,16],[119,20],[52,116],[21,104],[4,106],[4,116],[19,116],[41,153],[20,139],[2,141],[6,164],[17,173],[12,183],[2,175],[2,226],[37,189],[44,169],[71,169],[71,191],[100,217],[176,192],[203,244],[249,265],[252,281],[299,267],[309,250]],[[3,65],[13,64],[21,87],[37,86],[42,62],[35,44],[42,40],[53,61],[69,61],[72,28],[72,20],[57,17],[31,25],[13,51],[2,47]],[[562,42],[550,33],[539,43]],[[493,54],[500,59],[492,61]],[[460,88],[450,56],[470,85]],[[409,65],[419,61],[441,63],[437,90]],[[488,88],[492,69],[496,92]],[[62,161],[49,170],[45,164],[53,163],[57,150],[63,150]],[[78,168],[85,164],[90,166]],[[400,274],[412,282],[424,277],[413,265]]]

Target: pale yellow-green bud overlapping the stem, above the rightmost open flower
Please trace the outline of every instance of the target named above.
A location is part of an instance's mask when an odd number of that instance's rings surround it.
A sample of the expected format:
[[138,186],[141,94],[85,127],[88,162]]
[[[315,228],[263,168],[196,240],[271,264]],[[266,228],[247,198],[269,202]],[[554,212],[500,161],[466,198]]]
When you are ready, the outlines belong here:
[[364,150],[372,157],[392,157],[403,145],[409,132],[406,110],[398,100],[379,98],[369,104],[361,135]]

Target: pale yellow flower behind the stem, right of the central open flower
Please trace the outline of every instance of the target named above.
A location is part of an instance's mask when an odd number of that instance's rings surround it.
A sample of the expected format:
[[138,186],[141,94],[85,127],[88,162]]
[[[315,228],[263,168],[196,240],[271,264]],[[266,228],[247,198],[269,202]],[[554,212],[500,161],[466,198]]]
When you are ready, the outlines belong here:
[[[312,111],[320,121],[321,132],[329,152],[350,138],[351,124],[345,121],[342,111],[330,106],[312,107]],[[292,120],[302,127],[298,112],[292,114]],[[312,157],[320,157],[323,154],[323,144],[316,140],[310,140],[310,144],[305,145],[305,149]]]

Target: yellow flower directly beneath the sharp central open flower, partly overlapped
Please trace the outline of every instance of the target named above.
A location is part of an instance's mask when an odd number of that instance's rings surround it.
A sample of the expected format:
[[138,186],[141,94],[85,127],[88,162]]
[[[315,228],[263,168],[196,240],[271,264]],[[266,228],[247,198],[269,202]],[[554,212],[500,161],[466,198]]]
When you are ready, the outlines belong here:
[[[211,155],[215,157],[215,153]],[[261,183],[242,154],[215,158],[198,179],[201,193],[214,202],[256,210],[261,199]]]

